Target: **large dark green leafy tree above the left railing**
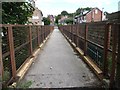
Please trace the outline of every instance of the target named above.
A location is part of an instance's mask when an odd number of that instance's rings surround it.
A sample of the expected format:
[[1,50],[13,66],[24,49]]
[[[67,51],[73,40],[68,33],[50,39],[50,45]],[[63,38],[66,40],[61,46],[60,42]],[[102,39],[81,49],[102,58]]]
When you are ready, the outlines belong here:
[[34,8],[28,2],[3,2],[2,24],[26,24]]

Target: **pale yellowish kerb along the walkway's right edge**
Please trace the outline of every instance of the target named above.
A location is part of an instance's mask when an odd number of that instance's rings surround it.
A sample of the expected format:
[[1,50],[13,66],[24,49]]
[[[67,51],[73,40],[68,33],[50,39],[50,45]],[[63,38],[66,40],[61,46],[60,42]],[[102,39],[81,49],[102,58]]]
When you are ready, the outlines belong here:
[[80,48],[76,47],[76,45],[65,34],[63,34],[63,36],[67,39],[67,41],[73,47],[73,49],[79,53],[82,60],[92,69],[92,71],[95,73],[95,75],[102,81],[103,80],[102,70],[100,70],[97,67],[97,65],[95,65],[94,62],[89,57],[84,56],[83,51]]

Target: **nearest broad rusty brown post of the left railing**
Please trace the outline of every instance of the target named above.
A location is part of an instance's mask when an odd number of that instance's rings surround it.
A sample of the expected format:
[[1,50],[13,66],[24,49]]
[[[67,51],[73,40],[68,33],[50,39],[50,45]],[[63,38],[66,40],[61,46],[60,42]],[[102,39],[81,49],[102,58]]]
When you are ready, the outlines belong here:
[[11,66],[12,66],[12,76],[13,78],[15,78],[16,63],[15,63],[15,52],[14,52],[15,50],[14,50],[13,30],[11,25],[9,25],[8,27],[8,39],[9,39],[10,59],[11,59]]

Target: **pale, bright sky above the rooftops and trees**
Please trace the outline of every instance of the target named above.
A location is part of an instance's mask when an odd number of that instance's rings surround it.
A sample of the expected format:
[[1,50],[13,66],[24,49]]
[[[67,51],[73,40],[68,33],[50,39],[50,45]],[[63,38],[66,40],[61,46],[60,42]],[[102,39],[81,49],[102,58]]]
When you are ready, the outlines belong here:
[[118,2],[120,0],[35,0],[43,16],[58,15],[63,10],[68,13],[75,12],[80,7],[98,7],[100,10],[109,13],[118,11]]

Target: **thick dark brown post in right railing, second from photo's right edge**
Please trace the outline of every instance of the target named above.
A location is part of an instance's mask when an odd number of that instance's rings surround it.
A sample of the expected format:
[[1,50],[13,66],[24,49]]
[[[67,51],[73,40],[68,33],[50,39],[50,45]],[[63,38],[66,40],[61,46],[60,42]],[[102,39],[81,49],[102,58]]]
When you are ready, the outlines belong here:
[[106,24],[105,25],[105,34],[104,34],[104,66],[103,66],[103,75],[106,77],[108,74],[108,47],[109,47],[109,43],[110,43],[110,28],[111,25],[110,24]]

